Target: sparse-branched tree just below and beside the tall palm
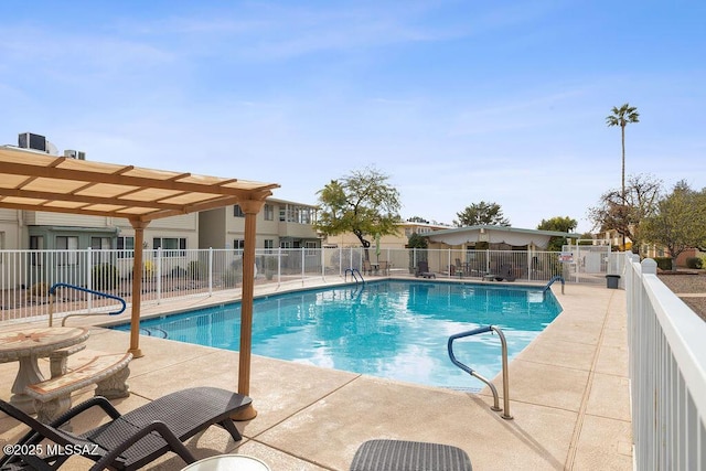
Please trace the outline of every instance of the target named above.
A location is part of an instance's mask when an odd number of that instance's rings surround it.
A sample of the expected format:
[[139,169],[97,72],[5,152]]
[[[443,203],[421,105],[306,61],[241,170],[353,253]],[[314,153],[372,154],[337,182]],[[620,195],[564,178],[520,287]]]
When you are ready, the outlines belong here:
[[632,250],[638,253],[642,242],[641,223],[655,213],[661,193],[662,181],[654,176],[628,178],[624,193],[609,190],[601,195],[599,205],[589,210],[593,228],[600,232],[613,229],[623,240],[630,238]]

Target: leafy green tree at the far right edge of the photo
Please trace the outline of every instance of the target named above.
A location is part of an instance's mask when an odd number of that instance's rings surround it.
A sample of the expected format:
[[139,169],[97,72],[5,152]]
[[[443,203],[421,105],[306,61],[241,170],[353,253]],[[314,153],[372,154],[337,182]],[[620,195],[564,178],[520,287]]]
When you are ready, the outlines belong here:
[[644,222],[643,238],[666,247],[672,257],[672,269],[676,269],[680,254],[706,242],[704,203],[704,192],[693,191],[682,180],[671,194],[660,200],[656,213]]

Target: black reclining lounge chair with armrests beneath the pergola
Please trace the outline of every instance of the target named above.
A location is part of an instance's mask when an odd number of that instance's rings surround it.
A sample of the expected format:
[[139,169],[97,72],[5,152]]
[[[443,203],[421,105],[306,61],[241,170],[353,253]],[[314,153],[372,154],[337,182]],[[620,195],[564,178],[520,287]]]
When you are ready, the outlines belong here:
[[[32,450],[36,447],[32,446],[42,442],[43,450],[46,451],[46,440],[71,449],[74,454],[81,451],[83,458],[96,461],[92,470],[135,470],[170,450],[186,463],[193,463],[196,459],[183,441],[214,424],[225,428],[235,441],[242,440],[231,416],[247,407],[250,402],[249,397],[229,390],[194,387],[169,394],[120,415],[105,397],[97,396],[45,425],[0,400],[0,410],[31,428],[17,443],[17,449],[13,449],[17,453],[2,456],[0,469],[57,469],[71,453],[60,452],[41,458],[35,456]],[[111,420],[81,435],[60,428],[94,406],[100,407]]]

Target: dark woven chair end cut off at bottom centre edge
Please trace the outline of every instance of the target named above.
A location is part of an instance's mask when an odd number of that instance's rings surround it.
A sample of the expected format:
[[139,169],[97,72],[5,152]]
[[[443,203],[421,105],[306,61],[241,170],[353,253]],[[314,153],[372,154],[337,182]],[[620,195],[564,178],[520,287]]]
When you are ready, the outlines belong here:
[[350,471],[472,471],[458,447],[404,440],[370,440],[361,445]]

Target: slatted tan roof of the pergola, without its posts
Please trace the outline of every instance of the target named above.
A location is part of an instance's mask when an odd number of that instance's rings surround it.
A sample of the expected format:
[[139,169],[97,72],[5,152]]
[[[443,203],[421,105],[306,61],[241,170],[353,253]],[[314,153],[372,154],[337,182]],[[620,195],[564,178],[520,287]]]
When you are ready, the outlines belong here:
[[0,148],[0,207],[150,222],[258,200],[276,183],[150,170]]

